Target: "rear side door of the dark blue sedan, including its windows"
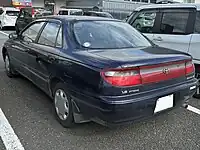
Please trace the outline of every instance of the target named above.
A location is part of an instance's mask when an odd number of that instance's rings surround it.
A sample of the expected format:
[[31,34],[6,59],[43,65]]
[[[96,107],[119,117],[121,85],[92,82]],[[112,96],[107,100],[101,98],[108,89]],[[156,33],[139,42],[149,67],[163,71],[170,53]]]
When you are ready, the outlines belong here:
[[57,20],[49,21],[38,36],[36,43],[33,43],[31,52],[27,57],[32,81],[45,92],[48,92],[51,68],[56,68],[62,46],[61,38],[61,22]]

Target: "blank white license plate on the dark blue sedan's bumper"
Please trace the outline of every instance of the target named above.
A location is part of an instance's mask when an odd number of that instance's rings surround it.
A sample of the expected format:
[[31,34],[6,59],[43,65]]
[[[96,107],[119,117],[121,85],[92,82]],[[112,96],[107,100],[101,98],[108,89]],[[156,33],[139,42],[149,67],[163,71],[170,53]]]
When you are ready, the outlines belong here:
[[173,102],[173,94],[159,98],[156,102],[154,113],[173,107]]

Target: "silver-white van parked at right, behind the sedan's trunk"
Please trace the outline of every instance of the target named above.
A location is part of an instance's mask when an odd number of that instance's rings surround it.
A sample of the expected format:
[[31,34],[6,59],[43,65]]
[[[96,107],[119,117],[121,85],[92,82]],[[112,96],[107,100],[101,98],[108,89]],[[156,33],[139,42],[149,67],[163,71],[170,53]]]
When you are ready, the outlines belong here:
[[[158,46],[192,55],[196,78],[200,79],[200,4],[144,5],[134,10],[127,22],[136,27],[144,22],[139,17],[146,13],[154,19],[137,29]],[[199,93],[198,88],[195,97],[200,98]]]

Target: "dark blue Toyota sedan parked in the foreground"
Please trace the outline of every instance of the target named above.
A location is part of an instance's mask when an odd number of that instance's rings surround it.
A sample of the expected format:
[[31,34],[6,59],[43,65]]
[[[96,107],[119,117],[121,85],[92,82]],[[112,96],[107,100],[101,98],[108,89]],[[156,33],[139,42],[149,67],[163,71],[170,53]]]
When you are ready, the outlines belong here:
[[35,20],[9,35],[2,54],[7,75],[20,74],[48,94],[64,127],[149,118],[187,106],[196,91],[190,55],[158,47],[115,19]]

